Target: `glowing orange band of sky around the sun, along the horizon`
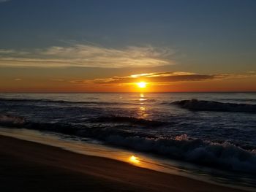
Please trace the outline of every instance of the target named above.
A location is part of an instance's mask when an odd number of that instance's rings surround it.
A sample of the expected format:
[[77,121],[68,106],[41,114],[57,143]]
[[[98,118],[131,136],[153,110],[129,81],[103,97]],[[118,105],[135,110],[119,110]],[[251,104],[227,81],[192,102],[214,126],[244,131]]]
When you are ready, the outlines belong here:
[[[1,77],[0,77],[1,78]],[[139,88],[136,82],[146,82]],[[1,80],[1,92],[190,92],[256,91],[256,75],[164,72],[92,80],[16,78]]]

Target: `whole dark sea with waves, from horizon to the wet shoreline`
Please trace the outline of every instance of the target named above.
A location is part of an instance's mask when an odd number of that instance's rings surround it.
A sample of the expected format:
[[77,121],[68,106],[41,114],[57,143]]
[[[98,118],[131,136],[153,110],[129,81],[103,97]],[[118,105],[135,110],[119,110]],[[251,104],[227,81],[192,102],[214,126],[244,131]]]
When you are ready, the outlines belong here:
[[0,125],[256,175],[256,93],[1,93]]

